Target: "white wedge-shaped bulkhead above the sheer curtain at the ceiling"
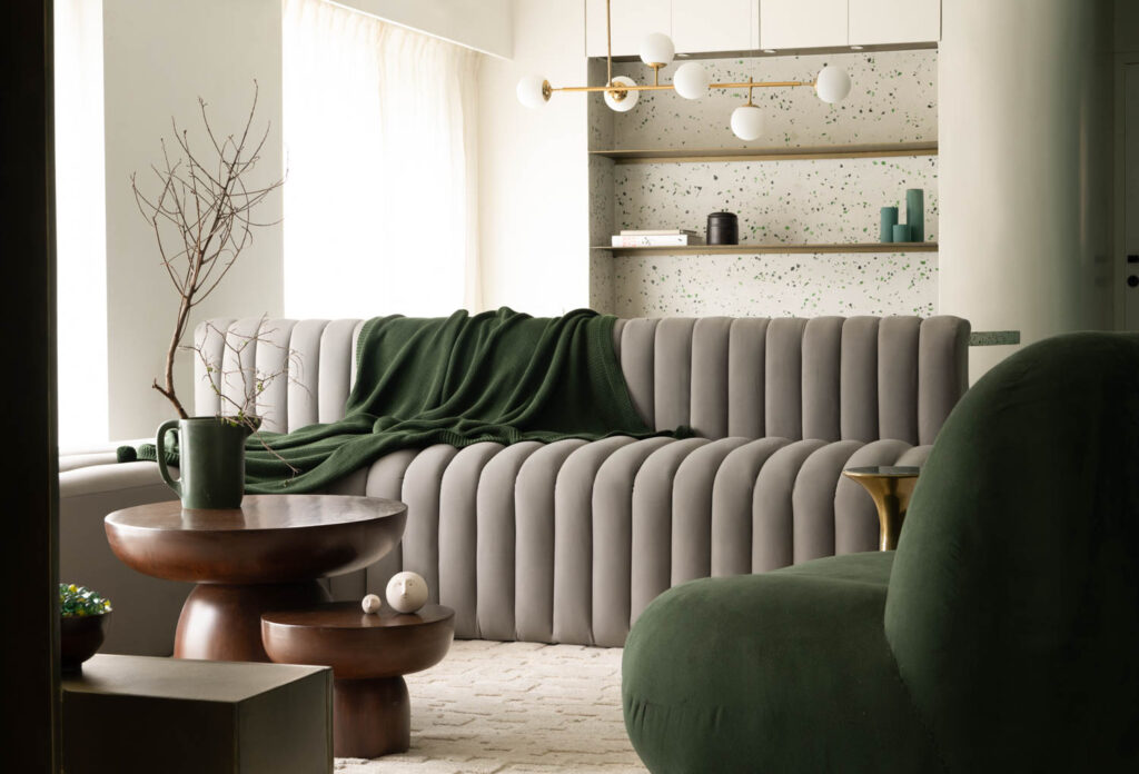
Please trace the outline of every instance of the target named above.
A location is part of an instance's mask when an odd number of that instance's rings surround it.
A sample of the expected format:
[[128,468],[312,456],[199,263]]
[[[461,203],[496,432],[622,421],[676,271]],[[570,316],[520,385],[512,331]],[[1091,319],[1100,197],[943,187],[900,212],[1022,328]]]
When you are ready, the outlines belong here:
[[[336,0],[336,2],[497,57],[509,58],[514,49],[510,24],[511,0]],[[552,7],[555,3],[546,5]]]

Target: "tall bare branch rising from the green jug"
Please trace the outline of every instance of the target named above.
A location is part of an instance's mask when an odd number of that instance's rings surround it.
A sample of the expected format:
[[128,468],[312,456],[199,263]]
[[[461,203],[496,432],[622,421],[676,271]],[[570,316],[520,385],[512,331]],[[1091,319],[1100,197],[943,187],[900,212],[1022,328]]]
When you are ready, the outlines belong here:
[[256,81],[253,82],[249,117],[239,134],[219,140],[202,98],[198,98],[198,107],[212,145],[212,149],[207,149],[208,157],[198,156],[190,148],[187,131],[179,130],[178,122],[171,118],[174,154],[171,155],[166,141],[162,140],[163,163],[150,167],[158,179],[158,192],[145,195],[137,175],[131,175],[134,201],[154,230],[162,265],[180,296],[166,349],[164,381],[159,384],[155,379],[151,386],[166,396],[182,419],[189,414],[174,393],[174,355],[186,335],[190,311],[229,273],[241,250],[253,242],[254,229],[279,223],[257,222],[253,214],[285,182],[284,179],[264,186],[249,182],[270,130],[267,124],[260,139],[251,133],[257,110]]

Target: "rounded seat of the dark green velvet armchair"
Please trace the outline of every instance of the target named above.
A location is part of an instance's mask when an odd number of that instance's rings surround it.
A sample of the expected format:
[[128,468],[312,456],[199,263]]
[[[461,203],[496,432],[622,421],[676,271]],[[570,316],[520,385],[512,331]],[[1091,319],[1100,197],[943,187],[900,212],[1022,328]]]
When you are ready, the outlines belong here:
[[649,604],[622,685],[649,769],[942,771],[882,627],[893,555],[694,580]]

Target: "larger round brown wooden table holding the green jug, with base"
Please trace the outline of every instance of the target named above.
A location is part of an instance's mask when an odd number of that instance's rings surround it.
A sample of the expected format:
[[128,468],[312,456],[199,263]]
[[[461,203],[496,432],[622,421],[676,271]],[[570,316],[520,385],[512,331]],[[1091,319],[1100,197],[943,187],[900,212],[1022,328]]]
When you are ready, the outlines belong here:
[[246,495],[231,510],[137,505],[108,516],[105,527],[128,566],[197,583],[178,619],[175,658],[268,661],[261,614],[327,602],[317,578],[386,554],[403,536],[407,512],[378,497]]

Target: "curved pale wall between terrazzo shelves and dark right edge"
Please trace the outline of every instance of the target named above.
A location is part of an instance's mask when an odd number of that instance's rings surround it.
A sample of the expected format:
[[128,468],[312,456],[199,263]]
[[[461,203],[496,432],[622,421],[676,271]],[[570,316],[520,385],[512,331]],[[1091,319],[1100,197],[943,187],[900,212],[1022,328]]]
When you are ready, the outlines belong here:
[[[1101,0],[942,5],[939,311],[1022,345],[1112,324]],[[973,347],[976,379],[1014,347]]]

